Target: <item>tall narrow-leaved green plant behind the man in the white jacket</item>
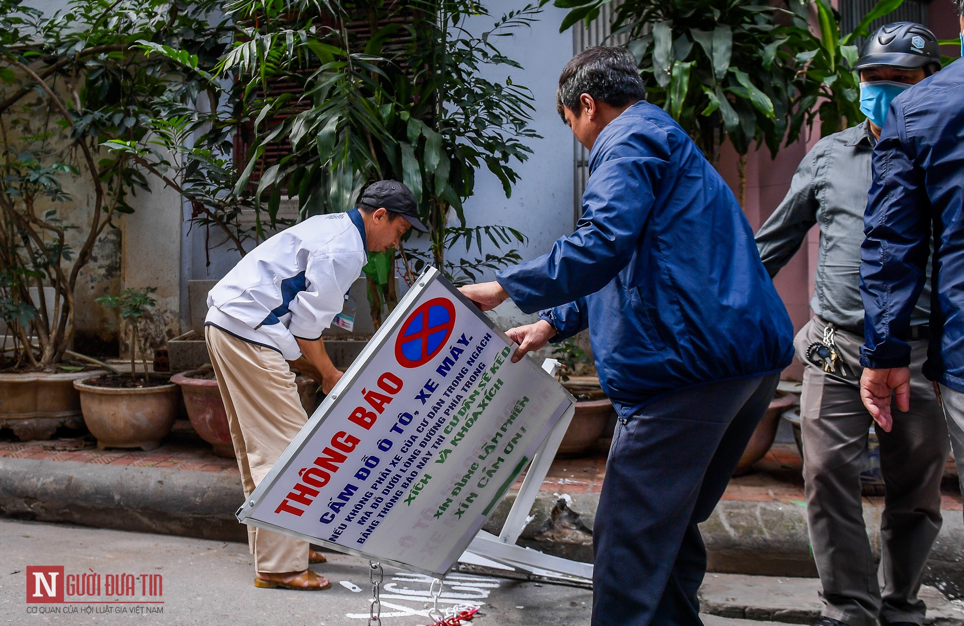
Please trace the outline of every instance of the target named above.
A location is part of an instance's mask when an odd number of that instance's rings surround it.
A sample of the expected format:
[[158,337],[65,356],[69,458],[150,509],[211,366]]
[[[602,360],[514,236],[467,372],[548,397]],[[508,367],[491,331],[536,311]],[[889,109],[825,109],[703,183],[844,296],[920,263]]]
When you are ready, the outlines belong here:
[[[248,93],[284,80],[303,94],[260,102],[236,195],[253,186],[264,151],[282,142],[290,153],[260,173],[254,189],[255,202],[266,199],[269,220],[284,196],[297,197],[302,214],[310,215],[351,208],[374,179],[395,178],[412,188],[430,229],[428,249],[407,247],[401,259],[376,259],[372,272],[387,264],[393,277],[401,260],[402,274],[411,277],[431,262],[465,282],[476,267],[519,259],[508,248],[525,241],[522,233],[467,226],[463,203],[482,168],[509,196],[518,179],[513,164],[528,158],[525,142],[538,137],[529,126],[529,91],[487,77],[492,69],[521,67],[495,42],[531,23],[538,7],[503,14],[481,35],[471,34],[466,22],[489,14],[472,2],[327,2],[321,8],[301,0],[270,6],[238,0],[230,11],[244,37],[221,70],[242,76]],[[368,35],[354,35],[361,28]],[[482,255],[483,238],[508,250]],[[446,259],[462,244],[467,251],[474,246],[478,257]],[[380,300],[393,297],[389,289],[378,293]]]

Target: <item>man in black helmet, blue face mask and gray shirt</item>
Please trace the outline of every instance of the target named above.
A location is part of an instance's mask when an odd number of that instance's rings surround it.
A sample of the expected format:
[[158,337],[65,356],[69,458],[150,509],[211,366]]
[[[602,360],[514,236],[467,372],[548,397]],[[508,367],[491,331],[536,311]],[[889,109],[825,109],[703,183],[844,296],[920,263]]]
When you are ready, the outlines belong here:
[[[824,137],[803,159],[784,201],[757,233],[763,265],[775,276],[815,224],[820,229],[815,316],[795,339],[804,363],[800,417],[807,515],[825,608],[821,626],[920,624],[917,596],[941,528],[940,483],[948,457],[944,417],[923,375],[911,382],[914,413],[880,432],[887,483],[882,516],[883,588],[862,513],[860,474],[872,420],[860,396],[860,246],[870,189],[870,155],[895,95],[940,69],[934,35],[913,22],[887,24],[870,36],[855,69],[868,116]],[[913,303],[912,303],[913,304]],[[911,313],[911,359],[924,363],[929,299]]]

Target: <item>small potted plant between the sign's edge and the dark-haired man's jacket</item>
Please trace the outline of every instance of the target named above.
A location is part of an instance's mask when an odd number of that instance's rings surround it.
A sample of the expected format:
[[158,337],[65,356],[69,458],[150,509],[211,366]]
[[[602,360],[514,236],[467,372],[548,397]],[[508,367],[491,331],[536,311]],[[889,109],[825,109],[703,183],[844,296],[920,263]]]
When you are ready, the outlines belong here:
[[589,361],[586,351],[576,345],[574,338],[560,341],[553,348],[552,356],[560,366],[556,379],[576,396],[576,414],[556,454],[581,456],[603,436],[612,413],[612,401],[603,394],[598,376],[572,375],[579,363]]

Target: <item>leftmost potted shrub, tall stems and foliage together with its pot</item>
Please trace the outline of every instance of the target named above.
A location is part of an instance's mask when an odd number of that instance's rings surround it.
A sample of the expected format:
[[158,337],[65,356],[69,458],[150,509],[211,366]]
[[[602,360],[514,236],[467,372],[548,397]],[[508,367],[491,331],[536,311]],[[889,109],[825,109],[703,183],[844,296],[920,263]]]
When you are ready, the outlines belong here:
[[190,110],[205,94],[196,72],[147,58],[136,42],[170,44],[202,69],[234,41],[215,0],[176,10],[164,0],[129,11],[66,4],[51,14],[0,0],[0,426],[22,439],[82,423],[72,379],[92,372],[70,350],[78,312],[117,288],[108,268],[120,255],[118,221],[133,212],[134,191],[159,180],[103,143],[149,145],[151,116],[174,118],[154,103]]

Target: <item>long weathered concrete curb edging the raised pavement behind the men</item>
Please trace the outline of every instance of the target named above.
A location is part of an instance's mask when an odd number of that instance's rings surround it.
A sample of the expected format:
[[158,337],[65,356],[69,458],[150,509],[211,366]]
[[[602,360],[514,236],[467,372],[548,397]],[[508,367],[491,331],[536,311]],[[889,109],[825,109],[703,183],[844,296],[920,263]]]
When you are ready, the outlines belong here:
[[[500,531],[514,500],[509,495],[495,507],[487,531]],[[234,518],[243,501],[234,474],[0,458],[0,514],[21,519],[245,541]],[[598,504],[596,494],[540,494],[520,544],[591,562]],[[865,507],[877,550],[880,513]],[[964,519],[959,511],[947,513],[925,582],[955,597],[964,595]],[[816,576],[802,505],[725,500],[701,530],[710,571]]]

